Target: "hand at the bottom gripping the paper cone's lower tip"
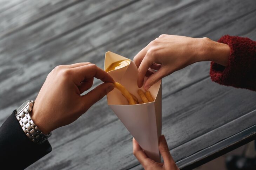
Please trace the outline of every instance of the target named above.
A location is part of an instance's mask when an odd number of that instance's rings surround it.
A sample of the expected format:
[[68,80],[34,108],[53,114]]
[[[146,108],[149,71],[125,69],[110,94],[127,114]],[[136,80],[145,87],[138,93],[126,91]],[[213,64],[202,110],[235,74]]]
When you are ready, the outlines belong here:
[[163,157],[163,163],[151,160],[133,138],[133,154],[145,170],[179,170],[173,157],[171,157],[164,135],[161,135],[159,138],[159,151]]

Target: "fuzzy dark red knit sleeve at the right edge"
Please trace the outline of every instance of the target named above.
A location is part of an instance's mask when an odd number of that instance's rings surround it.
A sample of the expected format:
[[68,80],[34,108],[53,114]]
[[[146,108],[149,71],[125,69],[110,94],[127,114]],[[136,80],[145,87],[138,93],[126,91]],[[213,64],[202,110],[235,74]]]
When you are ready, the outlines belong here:
[[256,91],[256,42],[229,35],[222,36],[218,42],[229,45],[230,55],[226,67],[211,62],[211,80]]

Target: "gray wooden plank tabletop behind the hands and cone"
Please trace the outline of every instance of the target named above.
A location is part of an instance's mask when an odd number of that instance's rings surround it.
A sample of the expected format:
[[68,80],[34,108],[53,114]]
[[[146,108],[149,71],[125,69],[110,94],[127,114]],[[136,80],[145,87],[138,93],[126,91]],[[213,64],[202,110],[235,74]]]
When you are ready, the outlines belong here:
[[[106,51],[133,59],[161,34],[256,40],[255,0],[0,0],[0,18],[0,125],[57,65],[103,68]],[[255,92],[211,82],[209,62],[165,77],[162,133],[175,161],[255,125],[255,101]],[[53,151],[27,169],[142,169],[106,98],[49,142]]]

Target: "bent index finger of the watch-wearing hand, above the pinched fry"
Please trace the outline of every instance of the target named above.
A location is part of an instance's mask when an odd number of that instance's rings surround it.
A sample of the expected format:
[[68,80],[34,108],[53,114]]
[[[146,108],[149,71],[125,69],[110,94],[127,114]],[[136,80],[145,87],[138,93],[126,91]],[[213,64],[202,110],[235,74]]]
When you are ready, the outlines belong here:
[[92,77],[96,77],[103,82],[112,82],[114,83],[114,79],[104,70],[97,67],[95,64],[88,64],[85,66],[72,68],[74,81],[77,85],[80,84],[81,81],[85,79],[89,79]]

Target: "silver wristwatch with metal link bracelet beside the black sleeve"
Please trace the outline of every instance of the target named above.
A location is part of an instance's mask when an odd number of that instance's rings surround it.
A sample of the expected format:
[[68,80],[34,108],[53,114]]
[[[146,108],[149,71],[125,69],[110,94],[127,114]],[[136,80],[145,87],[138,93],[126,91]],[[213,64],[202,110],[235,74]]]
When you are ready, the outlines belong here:
[[43,143],[45,142],[52,133],[43,134],[39,128],[34,124],[33,120],[31,119],[30,112],[34,105],[34,101],[26,101],[23,103],[15,112],[15,116],[18,119],[22,130],[35,143]]

